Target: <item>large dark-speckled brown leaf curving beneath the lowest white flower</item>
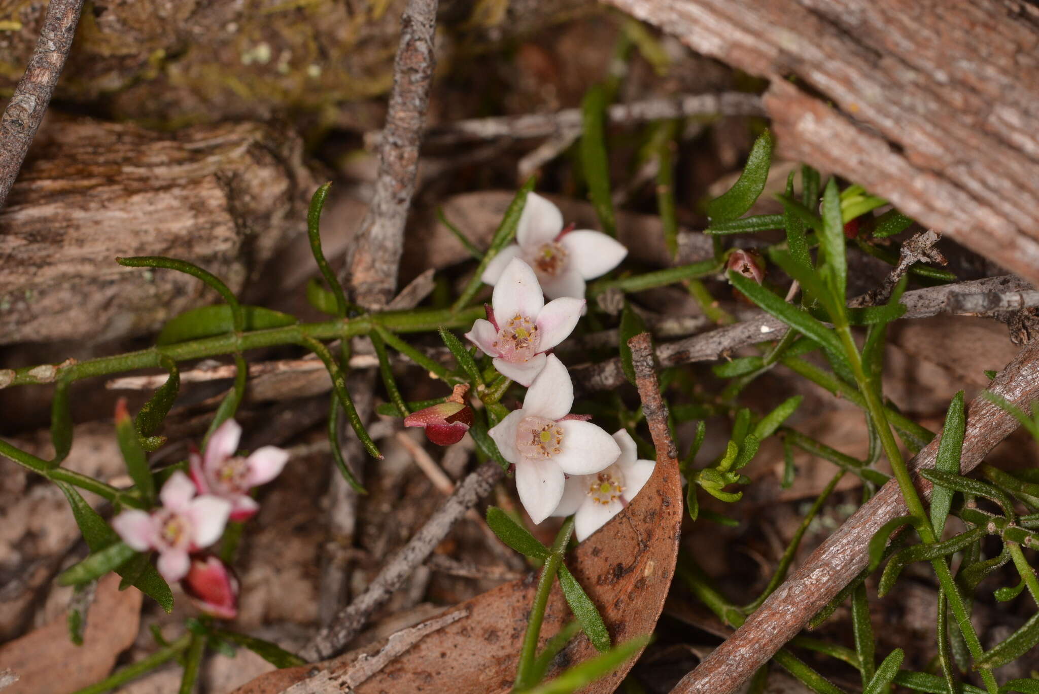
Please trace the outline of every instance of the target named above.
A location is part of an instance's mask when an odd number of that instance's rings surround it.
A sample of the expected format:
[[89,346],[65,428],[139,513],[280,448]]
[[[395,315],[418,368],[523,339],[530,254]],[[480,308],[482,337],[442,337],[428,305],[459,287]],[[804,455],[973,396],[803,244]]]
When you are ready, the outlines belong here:
[[[677,461],[661,453],[657,471],[642,492],[567,558],[566,565],[598,607],[614,643],[648,634],[656,625],[674,573],[682,512]],[[457,605],[453,611],[469,610],[469,617],[425,637],[355,691],[507,691],[515,674],[536,578],[536,573],[529,575]],[[545,610],[542,642],[570,618],[557,584]],[[374,652],[383,643],[365,651]],[[563,650],[559,661],[579,663],[594,655],[591,643],[581,636]],[[277,694],[309,673],[345,670],[356,658],[356,652],[347,653],[315,665],[271,672],[234,694]],[[634,659],[584,691],[614,691],[632,662]]]

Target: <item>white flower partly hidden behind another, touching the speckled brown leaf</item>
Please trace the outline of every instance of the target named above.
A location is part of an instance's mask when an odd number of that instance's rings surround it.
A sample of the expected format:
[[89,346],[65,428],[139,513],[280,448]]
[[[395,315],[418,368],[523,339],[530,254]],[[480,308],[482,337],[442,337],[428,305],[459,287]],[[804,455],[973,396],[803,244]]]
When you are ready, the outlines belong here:
[[578,541],[606,525],[620,513],[652,477],[654,460],[639,460],[631,434],[621,429],[613,434],[620,447],[620,457],[606,470],[566,480],[563,498],[552,515],[574,514],[574,533]]

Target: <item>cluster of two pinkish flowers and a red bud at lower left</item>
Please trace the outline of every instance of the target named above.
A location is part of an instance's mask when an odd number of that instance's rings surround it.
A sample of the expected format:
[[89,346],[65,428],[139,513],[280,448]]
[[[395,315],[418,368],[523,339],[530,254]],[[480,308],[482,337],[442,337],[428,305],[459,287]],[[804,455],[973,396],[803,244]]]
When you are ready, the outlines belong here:
[[265,446],[248,457],[235,455],[242,429],[228,420],[199,454],[192,451],[189,478],[178,471],[159,492],[159,508],[128,509],[112,528],[137,552],[159,553],[157,567],[166,581],[181,582],[199,610],[232,619],[238,612],[238,580],[218,558],[202,552],[223,534],[228,520],[246,520],[258,505],[249,490],[277,477],[289,454]]

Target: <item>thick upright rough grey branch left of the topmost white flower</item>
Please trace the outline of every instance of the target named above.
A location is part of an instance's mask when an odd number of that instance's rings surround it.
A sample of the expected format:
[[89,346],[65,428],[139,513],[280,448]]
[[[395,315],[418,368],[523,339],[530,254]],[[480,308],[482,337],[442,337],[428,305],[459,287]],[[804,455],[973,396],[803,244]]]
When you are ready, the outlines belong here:
[[381,309],[397,285],[404,225],[415,192],[419,146],[429,104],[436,56],[436,0],[408,0],[401,17],[400,45],[394,61],[387,126],[379,141],[379,175],[375,194],[357,234],[350,262],[350,282],[357,303]]

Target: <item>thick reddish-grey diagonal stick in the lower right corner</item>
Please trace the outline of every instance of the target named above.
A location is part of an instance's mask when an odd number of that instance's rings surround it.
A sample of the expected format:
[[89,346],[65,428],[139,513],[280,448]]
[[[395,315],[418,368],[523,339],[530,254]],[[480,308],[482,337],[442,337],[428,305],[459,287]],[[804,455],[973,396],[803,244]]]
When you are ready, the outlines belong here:
[[[989,385],[1024,411],[1039,400],[1039,340],[1022,349]],[[967,409],[961,474],[970,472],[1018,427],[1005,409],[979,396]],[[933,468],[940,437],[935,437],[910,462],[912,470]],[[915,480],[930,496],[931,484]],[[885,523],[906,514],[898,484],[893,480],[859,507],[841,528],[809,556],[790,579],[769,596],[730,638],[683,677],[672,694],[729,694],[794,638],[869,561],[869,543]]]

